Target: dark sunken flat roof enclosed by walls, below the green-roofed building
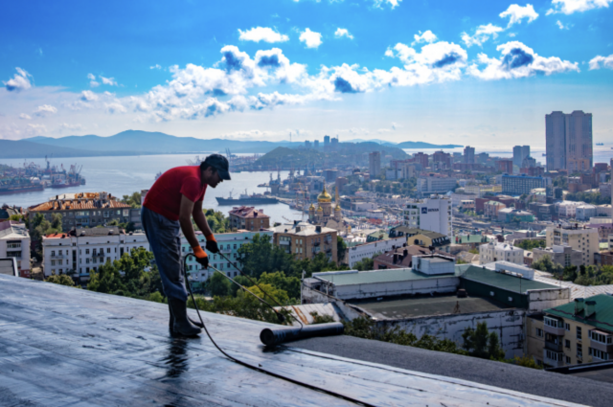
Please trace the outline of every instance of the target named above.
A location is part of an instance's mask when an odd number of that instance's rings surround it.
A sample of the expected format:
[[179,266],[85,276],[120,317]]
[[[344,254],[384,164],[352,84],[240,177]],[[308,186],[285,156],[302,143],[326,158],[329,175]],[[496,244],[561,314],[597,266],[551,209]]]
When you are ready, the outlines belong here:
[[417,295],[413,298],[398,300],[368,300],[350,301],[352,304],[378,318],[411,318],[416,316],[454,314],[455,306],[459,306],[459,314],[485,311],[504,310],[512,308],[487,298],[466,297],[458,298],[450,295]]

